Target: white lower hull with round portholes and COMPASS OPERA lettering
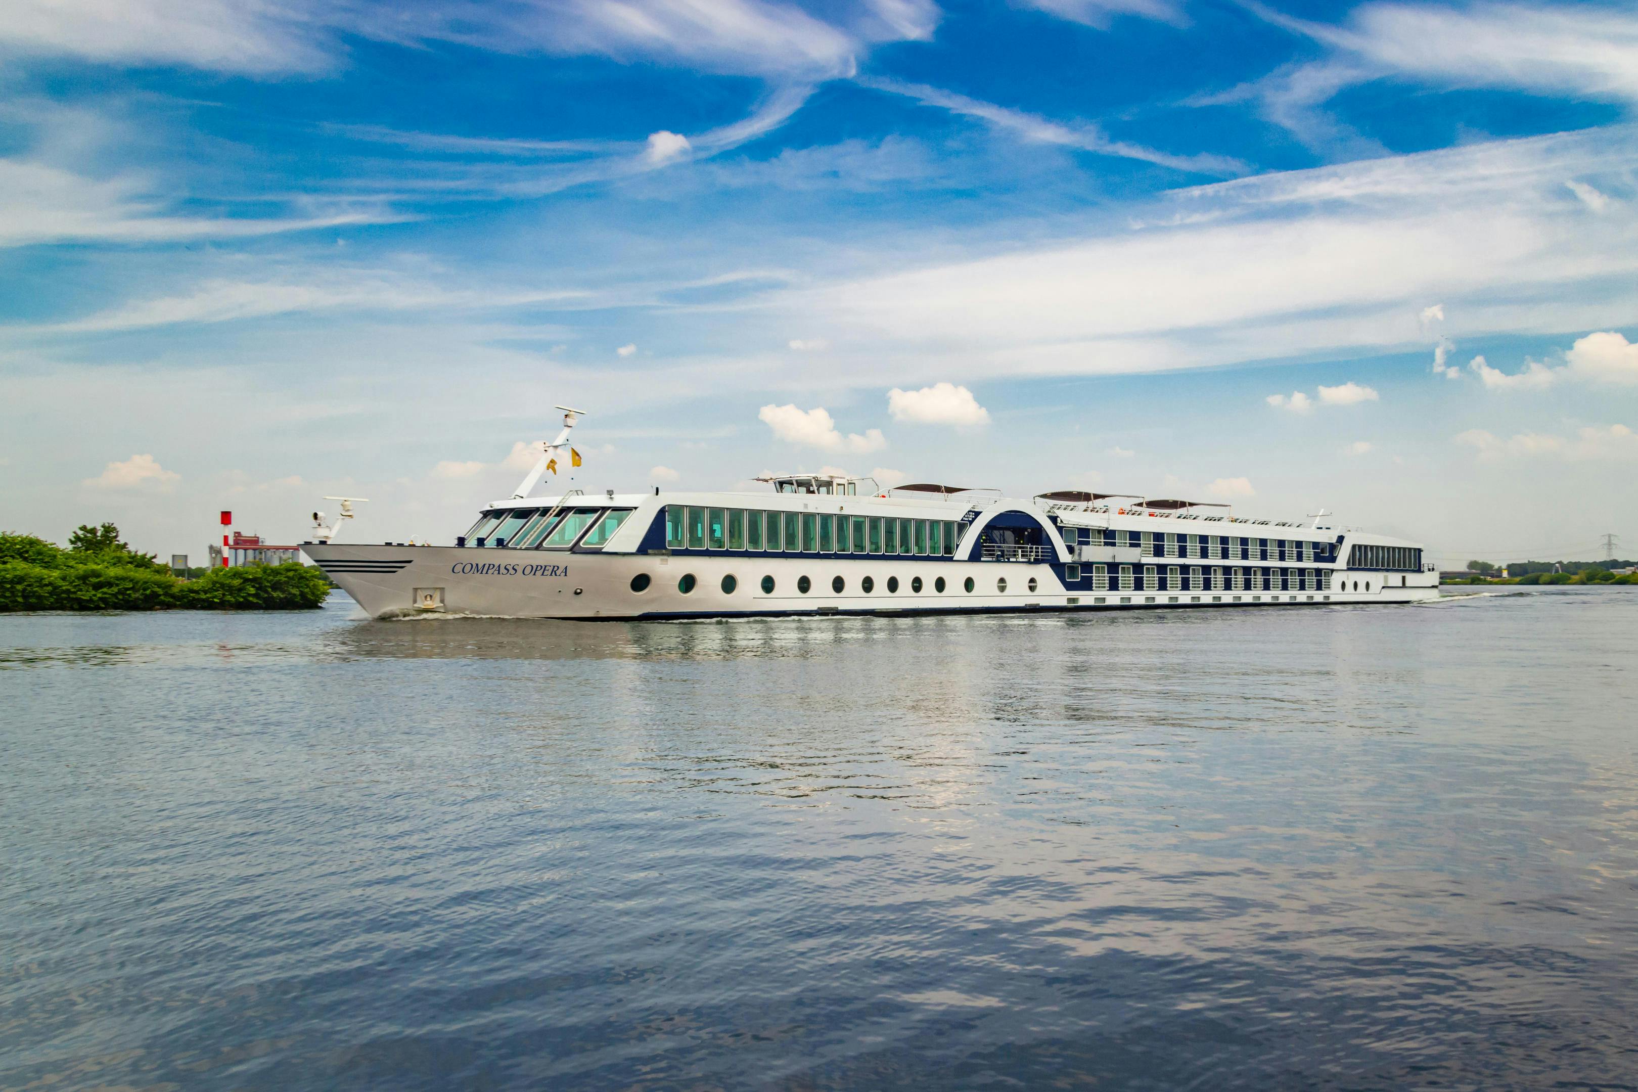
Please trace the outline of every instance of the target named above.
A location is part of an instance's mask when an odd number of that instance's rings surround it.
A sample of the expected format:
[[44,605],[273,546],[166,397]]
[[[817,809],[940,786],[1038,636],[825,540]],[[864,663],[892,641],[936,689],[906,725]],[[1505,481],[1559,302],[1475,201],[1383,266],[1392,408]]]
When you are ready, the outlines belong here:
[[[983,611],[1142,611],[1419,602],[1438,598],[1437,573],[1333,573],[1332,588],[1120,589],[1066,586],[1052,565],[939,558],[701,557],[552,553],[421,545],[305,545],[303,550],[375,617],[468,614],[532,619],[688,619],[794,614]],[[1176,558],[1160,558],[1161,563]],[[1186,563],[1201,565],[1197,558]],[[1210,562],[1206,563],[1210,566]],[[1219,562],[1217,568],[1227,563]],[[1312,568],[1312,566],[1307,566]],[[1228,570],[1232,571],[1232,570]],[[649,576],[642,591],[634,578]],[[693,576],[693,589],[681,591]],[[732,576],[732,591],[724,578]],[[763,578],[773,591],[763,591]],[[808,591],[799,591],[801,578]],[[842,591],[835,591],[835,578]],[[873,589],[863,591],[865,578]],[[1338,584],[1360,583],[1368,591]],[[898,589],[889,591],[889,578]],[[917,578],[921,591],[914,591]],[[939,591],[939,581],[943,589]],[[966,581],[973,589],[966,591]],[[999,581],[1006,581],[1006,591]],[[1030,586],[1030,581],[1034,588]],[[1400,581],[1404,584],[1400,586]],[[1117,580],[1109,583],[1119,584]],[[1210,578],[1207,578],[1210,583]],[[1224,584],[1232,584],[1225,573]],[[1294,581],[1296,583],[1296,581]],[[1322,583],[1322,581],[1315,581]]]

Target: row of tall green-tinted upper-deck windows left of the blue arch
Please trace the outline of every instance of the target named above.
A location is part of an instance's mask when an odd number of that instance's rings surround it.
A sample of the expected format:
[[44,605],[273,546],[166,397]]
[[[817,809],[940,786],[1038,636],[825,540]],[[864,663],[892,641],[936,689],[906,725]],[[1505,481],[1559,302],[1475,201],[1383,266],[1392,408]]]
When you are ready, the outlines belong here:
[[758,512],[739,508],[665,509],[670,550],[768,550],[783,553],[904,553],[952,557],[960,524],[942,519]]

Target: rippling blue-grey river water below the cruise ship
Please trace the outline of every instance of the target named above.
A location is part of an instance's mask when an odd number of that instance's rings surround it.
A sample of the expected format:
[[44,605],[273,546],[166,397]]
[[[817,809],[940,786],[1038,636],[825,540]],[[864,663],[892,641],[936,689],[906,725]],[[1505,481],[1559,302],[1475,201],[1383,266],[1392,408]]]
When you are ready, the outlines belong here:
[[1635,658],[1625,588],[0,617],[0,1087],[1635,1087]]

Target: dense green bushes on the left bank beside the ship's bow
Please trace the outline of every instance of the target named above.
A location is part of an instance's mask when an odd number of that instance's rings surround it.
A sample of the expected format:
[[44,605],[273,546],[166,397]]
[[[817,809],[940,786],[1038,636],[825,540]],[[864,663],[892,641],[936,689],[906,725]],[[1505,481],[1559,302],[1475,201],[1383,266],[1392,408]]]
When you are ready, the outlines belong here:
[[113,524],[80,526],[59,547],[0,534],[0,614],[16,611],[311,611],[331,583],[314,566],[242,565],[179,580]]

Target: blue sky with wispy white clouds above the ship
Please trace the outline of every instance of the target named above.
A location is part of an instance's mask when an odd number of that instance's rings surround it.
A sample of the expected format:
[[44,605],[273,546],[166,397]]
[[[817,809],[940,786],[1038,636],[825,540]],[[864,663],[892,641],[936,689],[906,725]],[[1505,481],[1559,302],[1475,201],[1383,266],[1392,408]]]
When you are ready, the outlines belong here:
[[[16,0],[5,526],[840,467],[1638,550],[1630,5]],[[1477,360],[1476,360],[1477,359]]]

